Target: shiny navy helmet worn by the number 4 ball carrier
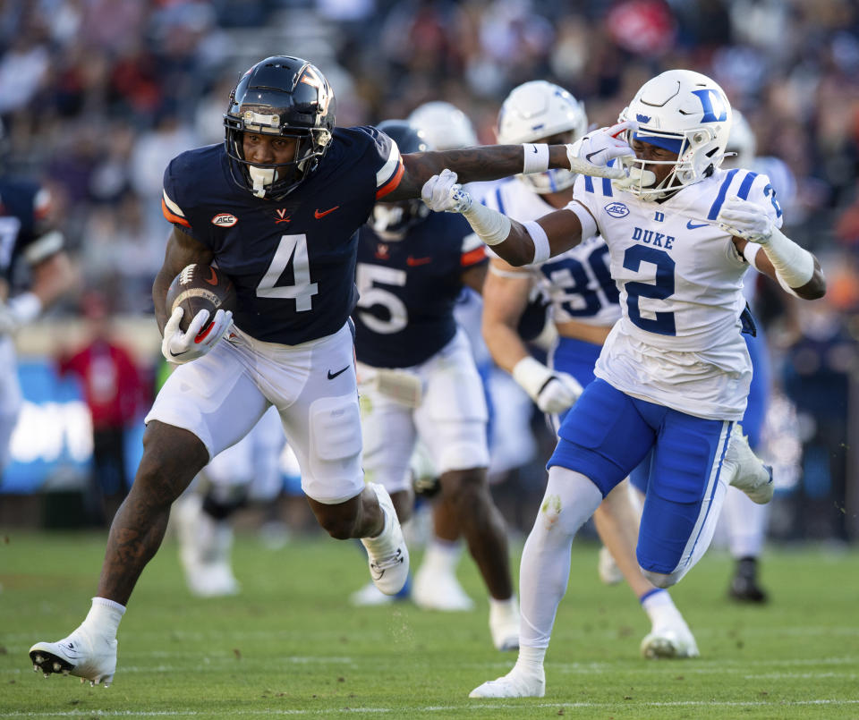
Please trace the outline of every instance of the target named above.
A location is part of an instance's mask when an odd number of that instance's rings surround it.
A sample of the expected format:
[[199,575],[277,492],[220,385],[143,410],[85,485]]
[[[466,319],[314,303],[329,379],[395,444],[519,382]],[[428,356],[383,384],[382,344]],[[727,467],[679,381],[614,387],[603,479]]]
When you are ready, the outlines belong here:
[[[255,64],[230,93],[225,147],[233,179],[258,198],[283,199],[319,165],[334,131],[334,92],[319,69],[300,57],[276,55]],[[242,133],[295,138],[288,163],[251,165]]]

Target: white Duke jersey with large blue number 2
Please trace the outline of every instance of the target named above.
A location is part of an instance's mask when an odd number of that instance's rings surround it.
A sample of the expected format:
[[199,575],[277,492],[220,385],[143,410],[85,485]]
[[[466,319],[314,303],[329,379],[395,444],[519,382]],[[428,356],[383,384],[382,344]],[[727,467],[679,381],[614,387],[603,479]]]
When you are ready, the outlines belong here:
[[752,363],[740,335],[748,268],[715,223],[727,197],[781,225],[766,175],[718,170],[655,203],[582,176],[575,199],[596,219],[623,317],[594,374],[634,397],[708,419],[742,419]]

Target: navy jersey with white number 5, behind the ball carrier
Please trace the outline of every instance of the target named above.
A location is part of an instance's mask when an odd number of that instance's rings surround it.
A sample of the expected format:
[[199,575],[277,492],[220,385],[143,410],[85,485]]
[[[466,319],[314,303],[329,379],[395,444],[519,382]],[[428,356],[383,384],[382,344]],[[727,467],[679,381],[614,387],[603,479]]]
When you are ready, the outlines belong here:
[[361,227],[361,300],[352,315],[358,360],[375,368],[429,360],[455,335],[464,271],[485,262],[483,243],[461,215],[431,213],[401,241]]

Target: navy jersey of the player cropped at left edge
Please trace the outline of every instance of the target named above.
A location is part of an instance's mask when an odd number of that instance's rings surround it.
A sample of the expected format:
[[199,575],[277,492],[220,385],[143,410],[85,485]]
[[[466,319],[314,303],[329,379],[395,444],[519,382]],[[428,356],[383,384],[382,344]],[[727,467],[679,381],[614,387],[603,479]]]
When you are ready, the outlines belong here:
[[0,276],[7,283],[12,284],[21,256],[34,264],[62,247],[57,233],[47,238],[50,248],[37,247],[49,206],[50,196],[38,182],[0,178]]

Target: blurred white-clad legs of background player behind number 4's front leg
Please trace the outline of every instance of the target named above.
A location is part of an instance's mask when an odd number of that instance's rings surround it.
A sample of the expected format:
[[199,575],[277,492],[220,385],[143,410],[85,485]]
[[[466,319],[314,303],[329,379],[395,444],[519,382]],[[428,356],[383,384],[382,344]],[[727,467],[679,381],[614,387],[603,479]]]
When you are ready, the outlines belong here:
[[239,592],[232,563],[234,514],[249,501],[275,501],[283,489],[284,446],[280,416],[270,407],[251,432],[200,470],[196,482],[174,504],[179,558],[192,595]]

